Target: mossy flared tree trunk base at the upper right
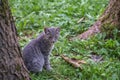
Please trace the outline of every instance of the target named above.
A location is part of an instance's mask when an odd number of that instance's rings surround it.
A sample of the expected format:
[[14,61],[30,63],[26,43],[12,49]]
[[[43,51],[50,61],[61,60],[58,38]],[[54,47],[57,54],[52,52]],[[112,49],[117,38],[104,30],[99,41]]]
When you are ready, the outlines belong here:
[[93,26],[75,38],[87,39],[98,32],[111,32],[114,28],[120,29],[120,0],[110,0],[106,10]]

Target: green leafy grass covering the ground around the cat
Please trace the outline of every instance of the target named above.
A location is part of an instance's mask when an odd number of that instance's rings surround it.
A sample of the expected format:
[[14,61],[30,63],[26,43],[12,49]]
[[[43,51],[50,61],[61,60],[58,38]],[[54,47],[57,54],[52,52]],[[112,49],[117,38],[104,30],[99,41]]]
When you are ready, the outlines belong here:
[[[46,26],[61,27],[61,35],[51,55],[53,71],[43,70],[39,75],[30,74],[33,80],[119,80],[120,38],[113,30],[114,38],[105,39],[106,34],[97,34],[88,40],[69,41],[87,30],[103,13],[108,0],[9,0],[19,43],[23,48]],[[81,23],[79,19],[85,18]],[[91,53],[103,56],[102,62],[94,62]],[[83,69],[74,68],[61,57],[82,59],[87,64]]]

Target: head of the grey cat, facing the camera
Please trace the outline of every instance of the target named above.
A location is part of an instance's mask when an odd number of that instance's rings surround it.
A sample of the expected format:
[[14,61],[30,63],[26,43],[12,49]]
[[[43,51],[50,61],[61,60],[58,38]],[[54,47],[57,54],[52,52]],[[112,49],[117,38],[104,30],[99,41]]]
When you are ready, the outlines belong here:
[[55,43],[60,35],[60,28],[59,27],[44,28],[44,32],[45,38],[50,43]]

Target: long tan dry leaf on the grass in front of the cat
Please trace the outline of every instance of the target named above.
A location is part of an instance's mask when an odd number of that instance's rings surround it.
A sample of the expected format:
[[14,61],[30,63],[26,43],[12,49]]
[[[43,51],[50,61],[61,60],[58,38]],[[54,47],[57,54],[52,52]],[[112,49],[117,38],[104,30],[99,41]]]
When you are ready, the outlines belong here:
[[77,67],[77,68],[81,68],[82,69],[82,66],[81,64],[86,64],[86,62],[84,60],[78,60],[78,59],[75,59],[75,58],[68,58],[64,55],[61,55],[61,57],[68,63],[72,64],[74,67]]

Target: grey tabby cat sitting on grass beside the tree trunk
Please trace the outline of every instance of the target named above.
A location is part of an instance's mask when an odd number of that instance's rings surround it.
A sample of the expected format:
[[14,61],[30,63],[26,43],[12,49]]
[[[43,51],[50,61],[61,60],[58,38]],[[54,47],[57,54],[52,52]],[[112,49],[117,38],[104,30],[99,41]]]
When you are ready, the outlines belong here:
[[41,72],[43,66],[51,70],[49,55],[57,41],[60,28],[44,28],[36,39],[32,40],[23,49],[23,60],[27,69],[31,72]]

